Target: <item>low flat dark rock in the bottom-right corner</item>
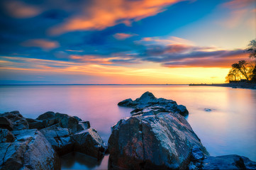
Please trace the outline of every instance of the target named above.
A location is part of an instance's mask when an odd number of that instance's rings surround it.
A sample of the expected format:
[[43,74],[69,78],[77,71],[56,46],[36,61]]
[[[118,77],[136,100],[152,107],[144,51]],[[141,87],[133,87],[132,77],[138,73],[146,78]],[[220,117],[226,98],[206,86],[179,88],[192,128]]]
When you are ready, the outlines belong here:
[[256,169],[256,162],[247,157],[230,154],[218,157],[206,157],[202,169]]

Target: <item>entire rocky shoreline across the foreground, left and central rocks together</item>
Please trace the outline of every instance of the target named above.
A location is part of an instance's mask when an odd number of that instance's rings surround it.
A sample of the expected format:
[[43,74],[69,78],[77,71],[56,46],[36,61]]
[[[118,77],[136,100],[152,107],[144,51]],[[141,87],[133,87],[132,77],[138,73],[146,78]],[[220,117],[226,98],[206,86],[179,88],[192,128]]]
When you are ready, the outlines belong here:
[[134,108],[111,127],[108,146],[89,121],[47,112],[36,119],[18,111],[0,114],[0,169],[60,169],[60,156],[81,152],[108,169],[256,169],[238,155],[211,157],[184,118],[187,108],[145,92],[118,106]]

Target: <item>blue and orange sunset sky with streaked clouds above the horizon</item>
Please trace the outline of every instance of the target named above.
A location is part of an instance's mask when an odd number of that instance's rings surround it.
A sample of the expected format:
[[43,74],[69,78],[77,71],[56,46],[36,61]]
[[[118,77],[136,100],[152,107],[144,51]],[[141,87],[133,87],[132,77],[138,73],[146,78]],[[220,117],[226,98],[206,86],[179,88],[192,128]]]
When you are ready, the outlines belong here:
[[0,84],[224,83],[255,0],[1,0]]

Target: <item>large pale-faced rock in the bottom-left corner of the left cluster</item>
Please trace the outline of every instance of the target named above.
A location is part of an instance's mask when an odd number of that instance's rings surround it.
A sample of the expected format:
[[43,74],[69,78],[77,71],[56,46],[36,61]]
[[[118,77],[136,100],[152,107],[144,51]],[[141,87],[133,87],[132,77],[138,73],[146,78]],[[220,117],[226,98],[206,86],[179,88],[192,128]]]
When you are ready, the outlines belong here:
[[0,143],[0,169],[60,169],[57,154],[38,130],[13,134],[15,142]]

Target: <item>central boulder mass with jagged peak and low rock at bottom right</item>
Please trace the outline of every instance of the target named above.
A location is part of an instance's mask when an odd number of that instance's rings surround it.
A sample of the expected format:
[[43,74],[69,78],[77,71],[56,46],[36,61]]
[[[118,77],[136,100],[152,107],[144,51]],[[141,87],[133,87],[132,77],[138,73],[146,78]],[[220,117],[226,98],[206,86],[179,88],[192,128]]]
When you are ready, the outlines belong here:
[[246,157],[210,157],[182,116],[187,109],[172,100],[146,92],[118,105],[135,110],[111,128],[108,169],[256,169]]

